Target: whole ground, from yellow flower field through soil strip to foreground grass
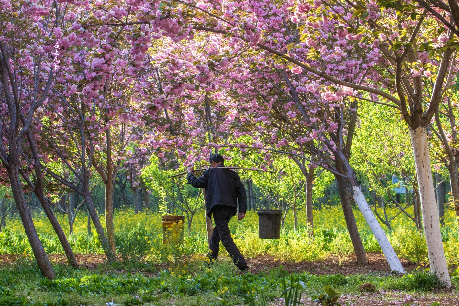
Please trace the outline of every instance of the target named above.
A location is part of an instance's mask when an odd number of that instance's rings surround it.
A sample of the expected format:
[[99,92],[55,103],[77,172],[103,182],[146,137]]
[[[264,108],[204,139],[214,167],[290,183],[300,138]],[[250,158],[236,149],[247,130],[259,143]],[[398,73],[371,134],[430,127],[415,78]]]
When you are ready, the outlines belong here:
[[[236,271],[223,247],[222,260],[211,269],[206,267],[202,256],[196,255],[207,252],[202,214],[195,218],[190,233],[185,229],[184,245],[174,247],[162,245],[157,213],[135,215],[132,211],[117,211],[115,232],[120,261],[108,265],[103,262],[97,235],[87,234],[87,219],[81,213],[74,234],[69,237],[73,250],[79,254],[81,268],[56,263],[57,278],[53,281],[40,277],[30,257],[11,255],[30,254],[30,245],[20,221],[8,220],[0,233],[0,306],[95,306],[111,301],[127,306],[293,306],[282,295],[284,284],[285,288],[301,292],[299,301],[311,306],[316,305],[312,300],[324,294],[326,286],[331,286],[327,289],[331,295],[331,289],[340,292],[336,298],[346,306],[459,305],[457,289],[439,290],[441,284],[428,273],[414,270],[403,278],[391,275],[384,257],[377,253],[379,245],[363,217],[358,211],[354,213],[365,250],[372,252],[371,265],[365,267],[355,263],[339,208],[314,212],[314,239],[303,224],[306,220],[303,211],[299,212],[298,230],[293,231],[292,218],[287,217],[280,239],[274,240],[258,239],[256,212],[248,212],[241,222],[233,218],[231,234],[244,256],[250,258],[253,268],[244,275]],[[389,211],[389,215],[392,213],[396,212]],[[60,218],[65,226],[65,218]],[[34,222],[45,250],[58,253],[50,257],[62,258],[62,247],[46,218],[36,215]],[[410,261],[426,263],[425,238],[415,230],[414,223],[402,216],[391,224],[392,231],[386,228],[386,232],[397,254],[404,258],[404,266],[412,270],[415,265]],[[457,287],[459,238],[451,211],[447,212],[442,238],[453,284]],[[279,261],[283,267],[278,267]],[[375,292],[362,292],[359,287],[365,283],[372,284],[366,286],[374,286]]]

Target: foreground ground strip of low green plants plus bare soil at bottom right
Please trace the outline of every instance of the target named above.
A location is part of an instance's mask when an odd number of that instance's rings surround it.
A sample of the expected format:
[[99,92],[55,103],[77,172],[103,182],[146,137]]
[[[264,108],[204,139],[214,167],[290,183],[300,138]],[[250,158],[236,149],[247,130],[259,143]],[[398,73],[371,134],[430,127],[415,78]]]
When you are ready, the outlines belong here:
[[[342,305],[459,305],[456,289],[438,290],[437,278],[423,271],[403,278],[387,272],[315,275],[290,273],[280,266],[241,274],[226,257],[212,268],[206,263],[200,256],[177,265],[118,262],[101,263],[92,270],[60,263],[55,265],[57,278],[50,281],[40,277],[30,258],[19,258],[0,266],[0,306],[94,306],[111,301],[128,306],[288,305],[282,295],[284,283],[286,288],[297,288],[304,305],[315,305],[313,296],[325,293],[325,286],[340,292]],[[459,270],[453,273],[455,286],[459,285],[458,274]],[[374,287],[362,289],[363,284]],[[375,292],[363,292],[365,289]]]

